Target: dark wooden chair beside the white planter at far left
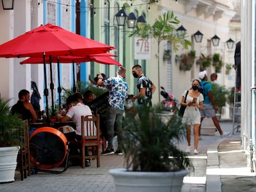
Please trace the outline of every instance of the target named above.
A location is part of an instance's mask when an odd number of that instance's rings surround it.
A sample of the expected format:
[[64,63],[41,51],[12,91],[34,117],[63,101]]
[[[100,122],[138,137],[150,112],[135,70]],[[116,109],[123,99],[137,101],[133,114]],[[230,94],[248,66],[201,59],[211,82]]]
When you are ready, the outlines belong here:
[[29,151],[29,136],[28,136],[28,120],[23,120],[24,128],[20,133],[22,138],[22,146],[17,158],[17,169],[20,172],[20,180],[30,176],[30,151]]

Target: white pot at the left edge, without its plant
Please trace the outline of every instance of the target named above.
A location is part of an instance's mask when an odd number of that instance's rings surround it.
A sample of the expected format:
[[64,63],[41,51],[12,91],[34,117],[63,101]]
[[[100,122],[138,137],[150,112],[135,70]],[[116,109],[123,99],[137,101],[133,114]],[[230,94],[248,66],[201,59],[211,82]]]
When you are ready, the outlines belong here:
[[13,182],[19,146],[0,148],[0,183]]

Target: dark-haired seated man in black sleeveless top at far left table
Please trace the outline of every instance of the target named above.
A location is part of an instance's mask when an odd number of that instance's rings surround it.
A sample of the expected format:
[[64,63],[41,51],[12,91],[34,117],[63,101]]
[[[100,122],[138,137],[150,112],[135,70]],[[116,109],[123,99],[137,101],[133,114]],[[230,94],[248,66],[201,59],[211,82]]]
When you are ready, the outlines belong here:
[[20,119],[28,120],[28,123],[35,123],[37,120],[36,112],[30,102],[30,93],[28,90],[19,92],[19,101],[12,106],[12,114],[20,114]]

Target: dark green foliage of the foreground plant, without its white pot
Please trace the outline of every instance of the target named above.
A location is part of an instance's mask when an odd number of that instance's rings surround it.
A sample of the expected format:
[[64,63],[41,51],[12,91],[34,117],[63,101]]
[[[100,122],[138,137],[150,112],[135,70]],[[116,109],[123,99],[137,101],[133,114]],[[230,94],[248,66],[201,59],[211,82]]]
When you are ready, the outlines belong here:
[[124,120],[123,141],[126,167],[133,171],[168,172],[192,167],[187,154],[176,143],[186,136],[181,117],[171,115],[161,119],[164,109],[159,106],[137,108],[139,119]]

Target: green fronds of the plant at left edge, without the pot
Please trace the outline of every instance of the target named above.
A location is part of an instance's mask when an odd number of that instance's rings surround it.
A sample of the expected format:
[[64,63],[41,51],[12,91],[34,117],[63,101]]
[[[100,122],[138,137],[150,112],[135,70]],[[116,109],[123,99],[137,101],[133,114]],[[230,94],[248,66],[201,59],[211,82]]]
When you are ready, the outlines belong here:
[[11,114],[8,106],[10,99],[0,98],[0,146],[20,146],[24,123],[19,119],[19,114]]

